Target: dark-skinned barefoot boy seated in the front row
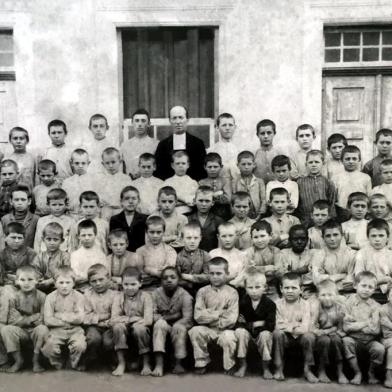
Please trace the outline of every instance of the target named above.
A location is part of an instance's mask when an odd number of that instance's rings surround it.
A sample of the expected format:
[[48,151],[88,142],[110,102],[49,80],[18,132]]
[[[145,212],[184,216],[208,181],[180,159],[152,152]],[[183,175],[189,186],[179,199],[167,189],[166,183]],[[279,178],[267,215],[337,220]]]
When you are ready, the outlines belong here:
[[182,374],[185,369],[182,361],[187,356],[188,330],[193,321],[193,299],[186,290],[178,286],[179,273],[175,267],[166,267],[162,271],[162,286],[152,294],[154,301],[154,328],[152,344],[154,348],[155,368],[153,376],[163,376],[163,360],[166,336],[174,348],[174,374]]

